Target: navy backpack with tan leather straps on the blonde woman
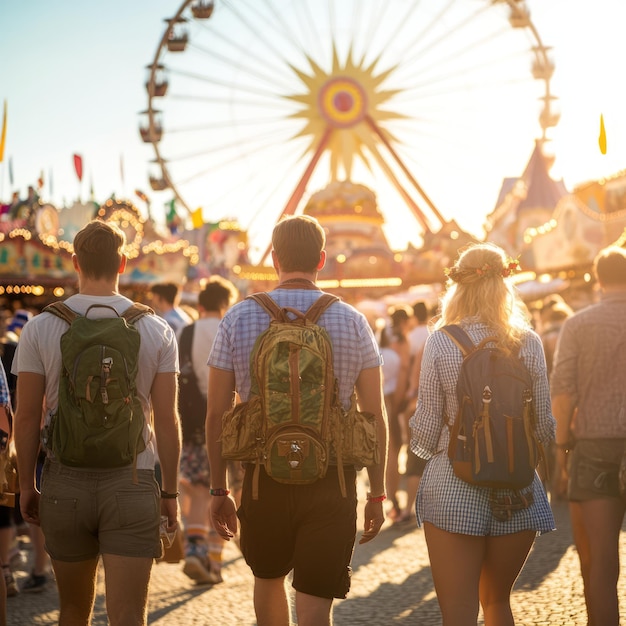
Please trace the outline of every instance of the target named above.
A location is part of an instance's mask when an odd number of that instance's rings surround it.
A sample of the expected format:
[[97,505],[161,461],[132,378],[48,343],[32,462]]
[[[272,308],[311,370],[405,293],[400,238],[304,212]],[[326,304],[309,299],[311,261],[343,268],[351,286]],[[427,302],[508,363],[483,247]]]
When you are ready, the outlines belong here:
[[449,424],[454,473],[481,487],[527,487],[543,456],[528,369],[517,353],[499,347],[496,337],[474,345],[460,326],[441,330],[463,353],[456,388],[459,409]]

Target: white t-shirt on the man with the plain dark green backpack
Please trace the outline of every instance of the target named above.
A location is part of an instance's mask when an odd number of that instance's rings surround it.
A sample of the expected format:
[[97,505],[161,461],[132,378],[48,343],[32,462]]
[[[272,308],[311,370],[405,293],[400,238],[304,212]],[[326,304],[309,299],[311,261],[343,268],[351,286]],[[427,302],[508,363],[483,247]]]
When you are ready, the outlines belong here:
[[[77,294],[69,297],[65,304],[73,311],[84,315],[93,304],[112,307],[122,314],[132,304],[132,300],[121,296],[85,296]],[[104,307],[93,308],[90,317],[113,317],[113,311]],[[139,371],[137,392],[141,399],[146,426],[144,440],[146,449],[137,457],[138,469],[152,469],[155,463],[156,442],[150,427],[150,390],[156,374],[178,373],[178,345],[170,325],[158,315],[146,315],[136,322],[141,335],[139,348]],[[57,408],[59,378],[61,375],[61,335],[68,329],[65,321],[52,313],[41,313],[33,317],[22,331],[11,372],[32,372],[45,376],[44,422],[48,424]]]

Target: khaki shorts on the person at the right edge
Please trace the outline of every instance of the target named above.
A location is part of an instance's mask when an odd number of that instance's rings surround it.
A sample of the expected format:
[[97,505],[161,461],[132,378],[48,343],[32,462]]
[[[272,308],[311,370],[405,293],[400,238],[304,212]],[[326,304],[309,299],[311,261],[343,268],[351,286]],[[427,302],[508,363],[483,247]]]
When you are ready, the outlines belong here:
[[568,454],[567,496],[573,502],[619,498],[624,439],[579,439]]

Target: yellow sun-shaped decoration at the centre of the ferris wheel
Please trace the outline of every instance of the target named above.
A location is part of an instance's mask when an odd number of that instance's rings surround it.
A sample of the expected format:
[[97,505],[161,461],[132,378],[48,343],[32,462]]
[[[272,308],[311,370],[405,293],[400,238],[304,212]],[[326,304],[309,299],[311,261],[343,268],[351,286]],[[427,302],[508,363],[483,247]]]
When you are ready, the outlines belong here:
[[340,170],[343,170],[345,178],[350,179],[355,156],[368,168],[368,152],[379,163],[383,161],[379,152],[381,139],[373,131],[373,126],[384,134],[387,141],[396,141],[382,125],[390,119],[406,118],[405,115],[381,108],[399,93],[399,90],[381,89],[396,66],[376,73],[379,57],[366,66],[364,59],[354,63],[351,50],[342,64],[334,44],[330,72],[324,71],[309,56],[307,61],[310,71],[302,71],[291,65],[304,83],[306,92],[284,96],[304,105],[303,109],[290,117],[306,121],[302,130],[295,135],[311,137],[306,152],[319,150],[324,143],[322,149],[330,153],[332,180],[338,180]]

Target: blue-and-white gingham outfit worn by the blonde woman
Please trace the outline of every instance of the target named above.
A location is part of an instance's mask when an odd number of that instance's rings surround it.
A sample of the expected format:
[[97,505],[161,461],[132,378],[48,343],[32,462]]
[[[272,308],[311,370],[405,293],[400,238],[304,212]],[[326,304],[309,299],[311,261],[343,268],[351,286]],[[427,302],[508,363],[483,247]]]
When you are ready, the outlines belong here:
[[[485,324],[476,321],[469,320],[462,326],[474,343],[493,334]],[[534,331],[524,335],[520,357],[533,379],[537,436],[546,446],[554,439],[556,422],[550,405],[543,347]],[[456,380],[462,360],[461,351],[445,333],[437,330],[430,335],[424,347],[417,408],[410,420],[411,450],[428,460],[417,494],[418,524],[430,522],[448,532],[478,536],[554,530],[552,510],[537,474],[532,487],[522,490],[524,493],[532,489],[533,504],[515,511],[505,522],[492,515],[489,496],[492,491],[496,496],[512,492],[476,487],[454,475],[447,454],[449,429],[445,416],[449,416],[447,420],[452,424],[458,408]]]

